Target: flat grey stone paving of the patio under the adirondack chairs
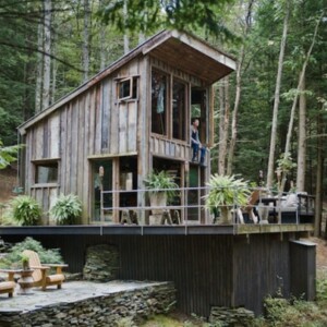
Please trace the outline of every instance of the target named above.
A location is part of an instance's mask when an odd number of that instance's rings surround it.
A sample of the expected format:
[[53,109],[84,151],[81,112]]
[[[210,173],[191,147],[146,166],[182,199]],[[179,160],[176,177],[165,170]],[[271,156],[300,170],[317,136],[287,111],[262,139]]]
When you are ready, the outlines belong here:
[[50,287],[46,291],[43,291],[40,288],[33,288],[28,294],[24,295],[19,294],[20,287],[17,286],[13,298],[8,298],[8,294],[0,294],[0,314],[4,312],[29,312],[58,303],[78,302],[102,294],[141,290],[160,283],[165,282],[121,280],[109,282],[66,281],[60,290],[57,287]]

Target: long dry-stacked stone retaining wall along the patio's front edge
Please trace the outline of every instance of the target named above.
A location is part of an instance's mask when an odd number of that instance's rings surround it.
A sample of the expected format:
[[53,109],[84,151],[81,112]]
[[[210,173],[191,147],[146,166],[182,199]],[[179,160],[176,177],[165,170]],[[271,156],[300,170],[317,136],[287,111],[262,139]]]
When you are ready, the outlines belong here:
[[[64,299],[62,299],[64,301]],[[175,290],[161,282],[144,289],[101,294],[33,311],[1,312],[2,327],[140,326],[146,317],[174,310]]]

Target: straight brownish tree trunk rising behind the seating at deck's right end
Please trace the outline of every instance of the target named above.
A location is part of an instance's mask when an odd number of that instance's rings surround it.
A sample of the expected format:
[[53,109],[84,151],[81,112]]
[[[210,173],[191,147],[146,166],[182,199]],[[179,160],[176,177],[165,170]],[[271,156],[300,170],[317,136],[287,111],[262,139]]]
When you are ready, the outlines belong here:
[[296,172],[296,190],[305,191],[305,158],[306,158],[306,97],[305,78],[301,84],[301,95],[299,105],[299,145],[298,145],[298,172]]

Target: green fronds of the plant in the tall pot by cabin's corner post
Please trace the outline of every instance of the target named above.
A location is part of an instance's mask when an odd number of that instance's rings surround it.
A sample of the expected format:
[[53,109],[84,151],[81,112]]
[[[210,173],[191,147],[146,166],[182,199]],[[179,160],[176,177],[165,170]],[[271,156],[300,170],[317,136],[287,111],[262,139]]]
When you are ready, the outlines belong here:
[[143,183],[146,190],[149,190],[148,194],[154,194],[158,192],[165,192],[168,199],[173,198],[177,195],[179,185],[173,181],[173,178],[170,177],[167,171],[153,171],[144,180]]

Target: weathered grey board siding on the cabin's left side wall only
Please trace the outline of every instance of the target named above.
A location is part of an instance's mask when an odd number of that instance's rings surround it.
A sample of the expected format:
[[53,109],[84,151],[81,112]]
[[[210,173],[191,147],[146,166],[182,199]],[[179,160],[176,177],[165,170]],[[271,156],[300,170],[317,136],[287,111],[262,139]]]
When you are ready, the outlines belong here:
[[[137,60],[131,62],[116,76],[137,75],[138,64]],[[55,194],[74,193],[87,214],[88,158],[137,152],[138,99],[118,101],[116,88],[113,76],[107,77],[27,130],[25,190],[40,201],[45,210]],[[44,159],[59,159],[57,186],[35,184],[35,167],[29,162]]]

